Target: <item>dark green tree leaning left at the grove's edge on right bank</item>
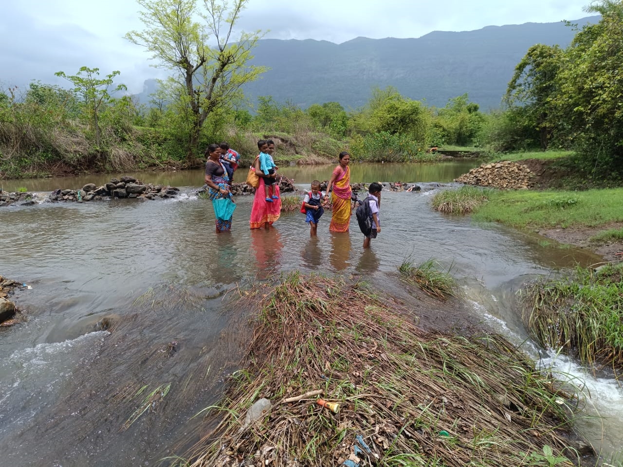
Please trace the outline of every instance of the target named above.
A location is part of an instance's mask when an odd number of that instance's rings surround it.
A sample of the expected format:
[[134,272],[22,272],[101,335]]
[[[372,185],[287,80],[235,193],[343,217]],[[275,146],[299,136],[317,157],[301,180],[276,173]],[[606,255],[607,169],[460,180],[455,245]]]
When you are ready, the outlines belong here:
[[551,118],[553,100],[558,93],[558,73],[563,65],[563,50],[558,45],[536,44],[515,67],[508,83],[505,101],[509,107],[523,106],[525,125],[539,132],[541,149],[547,149],[556,126]]

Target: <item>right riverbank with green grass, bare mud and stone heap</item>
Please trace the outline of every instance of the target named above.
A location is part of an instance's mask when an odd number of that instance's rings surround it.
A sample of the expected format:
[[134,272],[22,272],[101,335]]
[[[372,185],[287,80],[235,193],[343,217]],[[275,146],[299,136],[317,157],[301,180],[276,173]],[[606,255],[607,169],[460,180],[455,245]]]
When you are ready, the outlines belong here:
[[[456,202],[470,204],[468,212],[473,209],[477,222],[531,230],[563,245],[593,250],[606,261],[621,260],[623,187],[574,171],[575,157],[569,151],[505,155],[504,161],[492,160],[457,179],[501,191],[464,190]],[[474,197],[477,206],[472,206]]]

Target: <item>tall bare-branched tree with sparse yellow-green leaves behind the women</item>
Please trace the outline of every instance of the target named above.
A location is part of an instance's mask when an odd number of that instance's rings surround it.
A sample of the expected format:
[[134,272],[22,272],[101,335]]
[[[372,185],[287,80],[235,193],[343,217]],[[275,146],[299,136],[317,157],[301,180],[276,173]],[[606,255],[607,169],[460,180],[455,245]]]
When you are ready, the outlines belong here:
[[[195,161],[199,134],[206,118],[240,98],[240,87],[255,80],[265,67],[249,65],[260,31],[241,32],[232,39],[234,26],[249,0],[137,0],[144,11],[143,31],[131,31],[126,39],[151,52],[158,67],[174,71],[183,87],[180,105],[189,109],[189,164]],[[199,17],[204,24],[199,24]],[[211,45],[214,44],[214,45]]]

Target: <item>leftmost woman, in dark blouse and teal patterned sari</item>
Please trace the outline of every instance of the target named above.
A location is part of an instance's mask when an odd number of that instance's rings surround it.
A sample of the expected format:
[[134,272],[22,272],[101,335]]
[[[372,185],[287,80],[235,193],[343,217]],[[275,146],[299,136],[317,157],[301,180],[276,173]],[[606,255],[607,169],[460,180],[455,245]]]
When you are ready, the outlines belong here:
[[229,191],[229,176],[219,160],[221,148],[218,144],[210,144],[206,149],[206,185],[208,197],[212,200],[216,217],[216,232],[229,232],[232,228],[232,214],[235,204]]

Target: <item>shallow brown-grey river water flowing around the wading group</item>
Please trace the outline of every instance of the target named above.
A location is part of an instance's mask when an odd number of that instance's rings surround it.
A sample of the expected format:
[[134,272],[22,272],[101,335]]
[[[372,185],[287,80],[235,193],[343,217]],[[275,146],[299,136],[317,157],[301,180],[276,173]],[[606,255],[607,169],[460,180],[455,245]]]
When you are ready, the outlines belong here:
[[[403,260],[437,258],[459,278],[479,321],[539,358],[515,292],[540,275],[600,258],[430,209],[432,194],[445,189],[438,183],[475,165],[355,164],[352,182],[423,187],[383,192],[383,231],[367,251],[356,222],[350,234],[328,232],[330,213],[316,238],[298,212],[283,214],[272,229],[249,230],[251,197],[237,198],[231,234],[216,235],[211,203],[195,194],[201,171],[133,174],[181,187],[178,199],[1,208],[0,274],[32,289],[15,296],[27,321],[0,332],[0,466],[155,465],[182,454],[197,439],[191,417],[219,400],[248,337],[248,311],[233,300],[237,287],[262,287],[283,271],[364,276],[392,291]],[[332,169],[281,172],[307,189]],[[110,177],[2,183],[4,190],[52,191]],[[573,361],[541,357],[586,381],[591,410],[607,418],[582,428],[605,453],[620,449],[623,390]]]

